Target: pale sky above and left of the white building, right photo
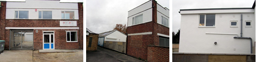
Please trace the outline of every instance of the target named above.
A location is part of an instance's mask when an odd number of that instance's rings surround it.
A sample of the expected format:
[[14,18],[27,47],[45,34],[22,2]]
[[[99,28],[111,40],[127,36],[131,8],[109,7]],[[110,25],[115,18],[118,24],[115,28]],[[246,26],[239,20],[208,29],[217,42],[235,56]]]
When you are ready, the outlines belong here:
[[252,8],[254,0],[173,0],[172,31],[180,28],[179,9]]

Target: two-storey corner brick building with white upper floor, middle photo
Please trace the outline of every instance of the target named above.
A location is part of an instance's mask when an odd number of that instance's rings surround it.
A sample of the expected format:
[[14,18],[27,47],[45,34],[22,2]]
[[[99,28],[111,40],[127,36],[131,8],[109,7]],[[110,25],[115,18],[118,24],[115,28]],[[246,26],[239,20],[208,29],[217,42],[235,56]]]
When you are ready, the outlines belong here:
[[149,62],[168,62],[169,22],[169,9],[155,0],[129,10],[127,54]]

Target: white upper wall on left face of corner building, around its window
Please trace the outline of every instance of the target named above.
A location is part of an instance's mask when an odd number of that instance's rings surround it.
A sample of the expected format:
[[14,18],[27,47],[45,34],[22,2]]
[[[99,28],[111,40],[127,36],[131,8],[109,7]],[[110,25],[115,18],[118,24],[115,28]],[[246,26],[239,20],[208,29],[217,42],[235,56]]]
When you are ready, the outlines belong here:
[[[139,7],[135,8],[135,9],[132,9],[132,10],[128,11],[128,17],[129,18],[128,18],[127,27],[133,26],[132,25],[132,18],[134,18],[134,17],[136,17],[138,15],[141,15],[141,14],[143,14],[143,22],[142,23],[146,23],[146,22],[152,21],[152,9],[150,9],[151,7],[152,7],[152,1],[148,1],[145,4],[139,6]],[[148,10],[146,10],[146,9],[148,9]],[[144,11],[144,10],[146,10],[146,11]],[[143,12],[141,12],[141,11],[143,11]],[[141,12],[141,13],[139,13],[139,12]]]

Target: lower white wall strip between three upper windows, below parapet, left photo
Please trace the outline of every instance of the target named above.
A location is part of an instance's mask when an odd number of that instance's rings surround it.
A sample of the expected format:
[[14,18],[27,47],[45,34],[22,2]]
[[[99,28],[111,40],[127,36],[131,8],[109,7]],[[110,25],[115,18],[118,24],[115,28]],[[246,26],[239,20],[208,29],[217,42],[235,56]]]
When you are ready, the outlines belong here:
[[79,19],[78,9],[6,9],[6,19],[14,19],[15,10],[29,11],[29,19],[39,19],[39,11],[52,11],[52,19],[61,19],[61,11],[74,11],[75,19]]

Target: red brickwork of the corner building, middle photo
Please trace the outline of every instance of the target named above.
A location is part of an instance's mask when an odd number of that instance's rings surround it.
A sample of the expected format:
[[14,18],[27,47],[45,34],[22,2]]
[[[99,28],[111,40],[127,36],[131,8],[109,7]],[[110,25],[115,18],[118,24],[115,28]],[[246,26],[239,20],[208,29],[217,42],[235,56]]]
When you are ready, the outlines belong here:
[[128,35],[128,55],[148,60],[148,45],[159,45],[157,33],[169,35],[169,28],[157,23],[157,2],[155,0],[152,0],[152,7],[151,22],[127,27],[128,34],[152,32],[152,35]]

